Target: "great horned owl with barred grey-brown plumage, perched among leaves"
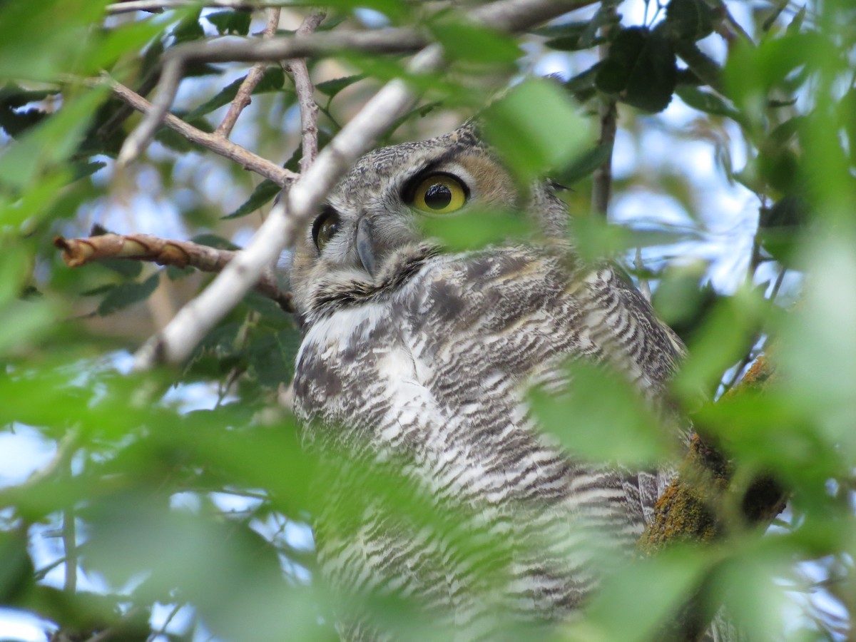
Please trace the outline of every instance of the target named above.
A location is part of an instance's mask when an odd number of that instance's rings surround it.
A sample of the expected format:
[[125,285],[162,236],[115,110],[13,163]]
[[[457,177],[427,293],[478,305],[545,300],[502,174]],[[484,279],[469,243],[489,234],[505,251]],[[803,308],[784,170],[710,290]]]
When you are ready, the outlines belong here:
[[[473,206],[525,211],[543,241],[443,253],[420,234]],[[366,154],[306,229],[294,407],[330,462],[318,561],[342,595],[402,598],[448,639],[513,637],[573,614],[632,550],[663,474],[575,460],[526,390],[561,389],[583,358],[657,403],[682,347],[613,268],[574,259],[567,218],[549,185],[520,193],[470,123]],[[377,475],[395,488],[361,485]],[[343,638],[395,637],[369,610],[344,609]]]

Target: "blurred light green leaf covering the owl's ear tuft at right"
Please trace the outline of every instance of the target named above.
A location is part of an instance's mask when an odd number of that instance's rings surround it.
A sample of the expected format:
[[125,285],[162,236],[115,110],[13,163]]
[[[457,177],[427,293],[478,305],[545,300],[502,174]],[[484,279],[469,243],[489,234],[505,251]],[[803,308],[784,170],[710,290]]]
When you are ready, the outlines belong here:
[[480,122],[485,139],[520,181],[568,163],[590,137],[586,119],[550,80],[514,86],[484,110]]

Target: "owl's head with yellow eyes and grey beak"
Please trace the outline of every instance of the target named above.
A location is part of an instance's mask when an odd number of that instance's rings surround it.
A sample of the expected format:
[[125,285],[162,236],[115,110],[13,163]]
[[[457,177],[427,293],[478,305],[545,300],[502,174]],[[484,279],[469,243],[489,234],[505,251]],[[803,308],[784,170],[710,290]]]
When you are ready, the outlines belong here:
[[470,121],[431,140],[383,147],[354,164],[302,233],[290,270],[305,315],[337,297],[389,286],[440,248],[425,239],[425,217],[468,210],[526,211],[547,237],[562,237],[565,205],[546,183],[521,190]]

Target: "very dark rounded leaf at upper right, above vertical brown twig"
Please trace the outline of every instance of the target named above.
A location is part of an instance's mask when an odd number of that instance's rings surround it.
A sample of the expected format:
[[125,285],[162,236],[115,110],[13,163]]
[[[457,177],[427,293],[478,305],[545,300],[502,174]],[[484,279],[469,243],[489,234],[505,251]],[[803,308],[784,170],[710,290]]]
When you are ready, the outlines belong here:
[[677,68],[669,39],[644,27],[622,29],[597,70],[597,88],[640,110],[662,111],[675,91]]

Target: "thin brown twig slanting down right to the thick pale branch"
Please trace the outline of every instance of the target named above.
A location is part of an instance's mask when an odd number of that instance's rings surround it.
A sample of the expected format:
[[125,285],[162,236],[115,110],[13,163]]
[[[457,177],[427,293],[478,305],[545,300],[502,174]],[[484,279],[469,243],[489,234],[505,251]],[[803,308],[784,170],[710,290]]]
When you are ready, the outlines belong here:
[[[140,96],[140,94],[132,91],[128,87],[116,82],[110,76],[102,76],[103,80],[93,80],[93,83],[107,82],[117,98],[122,99],[135,110],[148,114],[152,109],[152,103]],[[294,182],[297,175],[288,169],[282,168],[276,163],[271,163],[267,158],[262,158],[247,148],[235,145],[231,140],[226,140],[223,136],[217,134],[208,134],[201,129],[188,125],[187,122],[176,118],[172,114],[167,114],[163,118],[163,124],[168,128],[175,130],[192,143],[197,143],[207,147],[224,158],[239,163],[244,169],[254,171],[256,174],[269,178],[276,182],[277,185],[286,186],[288,183]]]

